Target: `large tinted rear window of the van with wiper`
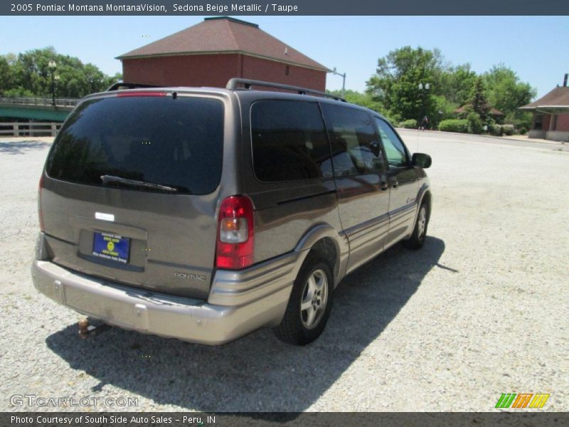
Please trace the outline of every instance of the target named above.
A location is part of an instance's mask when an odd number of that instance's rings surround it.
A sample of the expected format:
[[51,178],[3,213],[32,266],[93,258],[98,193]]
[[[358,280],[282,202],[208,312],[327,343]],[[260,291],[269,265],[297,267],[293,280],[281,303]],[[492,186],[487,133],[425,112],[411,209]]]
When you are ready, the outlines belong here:
[[209,194],[223,155],[223,104],[200,97],[129,96],[87,100],[55,139],[48,176],[93,186],[102,176],[143,181],[140,191]]

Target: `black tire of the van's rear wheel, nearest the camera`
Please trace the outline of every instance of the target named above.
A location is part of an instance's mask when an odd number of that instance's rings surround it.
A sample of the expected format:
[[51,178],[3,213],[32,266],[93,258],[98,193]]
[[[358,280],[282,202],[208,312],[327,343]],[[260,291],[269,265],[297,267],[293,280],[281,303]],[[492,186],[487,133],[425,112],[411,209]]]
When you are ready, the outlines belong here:
[[[321,291],[319,295],[314,292],[312,297],[309,296],[309,288],[312,286],[309,284],[311,277],[314,279],[314,286],[317,286],[317,280],[325,278],[325,283],[322,284],[323,288],[324,286],[326,288],[324,304],[322,304],[324,292]],[[296,280],[294,280],[285,317],[282,318],[280,325],[275,327],[277,338],[282,342],[294,345],[306,345],[313,342],[319,337],[326,326],[326,322],[328,322],[333,297],[334,280],[329,265],[319,258],[309,255],[309,258],[304,261]],[[319,298],[320,304],[318,304]],[[309,304],[312,307],[317,307],[317,309],[301,310],[303,300],[304,305]],[[313,310],[315,313],[314,324],[309,327],[311,325],[309,316]]]

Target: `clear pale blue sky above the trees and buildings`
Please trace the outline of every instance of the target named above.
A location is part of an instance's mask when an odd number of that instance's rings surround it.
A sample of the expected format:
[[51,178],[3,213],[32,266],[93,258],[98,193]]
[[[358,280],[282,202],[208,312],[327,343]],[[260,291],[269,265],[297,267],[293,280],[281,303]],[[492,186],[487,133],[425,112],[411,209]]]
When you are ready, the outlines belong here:
[[[569,73],[568,16],[238,16],[364,90],[378,58],[402,46],[439,48],[477,73],[504,63],[546,94]],[[54,46],[59,53],[121,71],[115,56],[192,26],[203,16],[0,16],[0,54]],[[328,75],[328,89],[341,77]]]

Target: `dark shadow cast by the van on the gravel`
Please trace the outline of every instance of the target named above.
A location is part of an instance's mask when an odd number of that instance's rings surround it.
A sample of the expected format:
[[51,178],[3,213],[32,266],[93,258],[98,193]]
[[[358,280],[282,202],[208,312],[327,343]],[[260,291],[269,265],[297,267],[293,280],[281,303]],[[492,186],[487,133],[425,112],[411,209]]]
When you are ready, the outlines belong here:
[[270,330],[220,347],[116,327],[82,340],[76,325],[46,342],[72,369],[100,381],[92,396],[107,395],[112,384],[159,405],[197,411],[304,411],[398,315],[425,275],[445,268],[439,264],[444,251],[442,240],[428,237],[420,251],[397,245],[363,265],[337,288],[326,330],[307,347],[282,344]]

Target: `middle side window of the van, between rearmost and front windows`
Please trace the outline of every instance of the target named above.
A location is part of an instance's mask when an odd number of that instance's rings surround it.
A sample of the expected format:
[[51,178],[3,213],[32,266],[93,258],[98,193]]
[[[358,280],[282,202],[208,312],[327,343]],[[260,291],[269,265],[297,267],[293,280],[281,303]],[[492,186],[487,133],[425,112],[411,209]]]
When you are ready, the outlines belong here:
[[362,110],[323,104],[336,176],[383,172],[381,144],[371,116]]

